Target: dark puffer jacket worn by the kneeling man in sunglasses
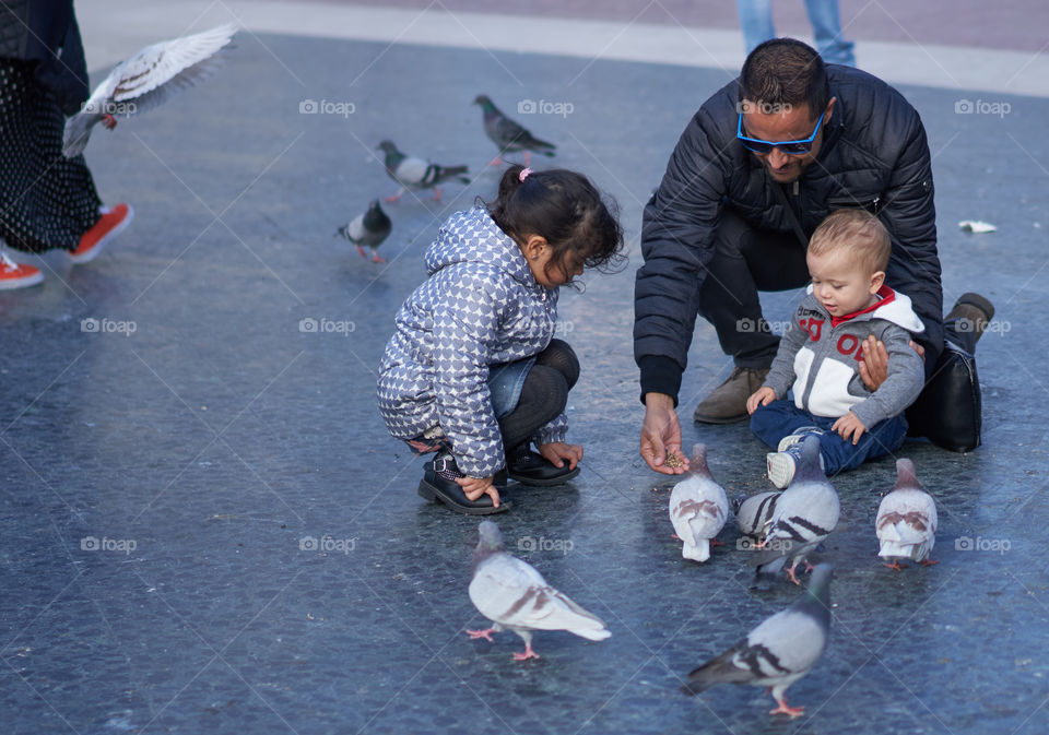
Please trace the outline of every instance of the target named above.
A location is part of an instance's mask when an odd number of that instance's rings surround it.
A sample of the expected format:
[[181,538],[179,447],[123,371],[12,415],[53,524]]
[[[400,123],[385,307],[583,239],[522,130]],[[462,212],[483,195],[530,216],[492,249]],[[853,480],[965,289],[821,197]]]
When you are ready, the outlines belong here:
[[[833,210],[876,212],[893,240],[886,283],[911,298],[926,324],[926,365],[943,348],[943,294],[936,254],[932,169],[914,107],[865,72],[827,66],[837,98],[818,157],[793,183],[773,181],[736,140],[738,82],[692,118],[659,189],[645,208],[634,293],[634,357],[641,395],[676,396],[699,304],[714,230],[723,206],[755,227],[793,232],[771,187],[782,187],[806,236]],[[801,245],[799,244],[799,247]]]

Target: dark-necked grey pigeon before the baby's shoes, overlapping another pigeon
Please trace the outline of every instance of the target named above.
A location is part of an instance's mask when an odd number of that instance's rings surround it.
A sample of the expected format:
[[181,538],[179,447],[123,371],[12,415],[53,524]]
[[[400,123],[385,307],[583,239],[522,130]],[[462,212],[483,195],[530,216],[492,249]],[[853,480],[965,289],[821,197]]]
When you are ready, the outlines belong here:
[[787,576],[794,584],[801,584],[794,569],[801,561],[811,567],[805,557],[830,535],[841,514],[838,494],[820,465],[820,439],[809,435],[801,447],[798,471],[779,496],[762,550],[751,561],[758,574],[775,574],[789,557]]

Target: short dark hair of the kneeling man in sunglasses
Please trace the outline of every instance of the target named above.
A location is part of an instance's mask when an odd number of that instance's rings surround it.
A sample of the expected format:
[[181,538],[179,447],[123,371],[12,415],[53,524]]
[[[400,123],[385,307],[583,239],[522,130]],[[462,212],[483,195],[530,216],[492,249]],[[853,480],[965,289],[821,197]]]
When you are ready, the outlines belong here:
[[830,99],[827,68],[808,44],[794,38],[773,38],[751,51],[740,73],[740,102],[762,108],[809,105],[813,120]]

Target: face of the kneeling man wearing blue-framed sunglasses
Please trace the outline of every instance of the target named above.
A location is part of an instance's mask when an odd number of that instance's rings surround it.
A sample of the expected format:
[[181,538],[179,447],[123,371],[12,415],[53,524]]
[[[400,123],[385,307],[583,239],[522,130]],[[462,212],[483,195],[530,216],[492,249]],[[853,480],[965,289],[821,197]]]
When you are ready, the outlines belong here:
[[[820,146],[823,143],[823,131],[830,122],[830,115],[834,108],[834,99],[827,103],[827,109],[823,115],[823,125],[816,132],[816,138],[812,142],[812,149],[809,153],[802,155],[789,155],[778,147],[774,147],[768,153],[754,153],[768,169],[769,176],[779,183],[790,183],[801,176],[801,171],[816,159],[820,155]],[[809,105],[793,105],[785,107],[783,110],[767,110],[767,106],[758,104],[747,104],[743,112],[743,134],[747,138],[756,138],[763,141],[800,141],[812,135],[816,127],[820,115],[812,115]],[[753,153],[753,152],[752,152]]]

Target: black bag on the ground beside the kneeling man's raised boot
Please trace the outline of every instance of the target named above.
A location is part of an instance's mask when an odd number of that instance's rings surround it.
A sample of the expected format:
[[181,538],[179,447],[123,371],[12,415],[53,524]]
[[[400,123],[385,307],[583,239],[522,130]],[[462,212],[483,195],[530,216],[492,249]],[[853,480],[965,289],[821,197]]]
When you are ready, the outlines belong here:
[[980,446],[981,423],[976,358],[945,342],[924,390],[907,410],[907,434],[952,452],[970,452]]

